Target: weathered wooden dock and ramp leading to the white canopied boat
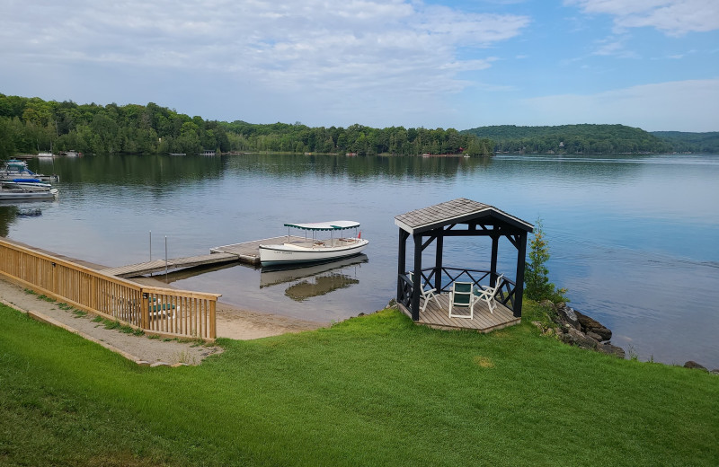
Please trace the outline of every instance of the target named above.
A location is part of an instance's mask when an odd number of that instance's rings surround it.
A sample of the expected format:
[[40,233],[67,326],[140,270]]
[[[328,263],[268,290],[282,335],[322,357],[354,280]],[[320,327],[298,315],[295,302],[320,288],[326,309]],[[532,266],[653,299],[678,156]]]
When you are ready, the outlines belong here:
[[235,243],[232,245],[217,246],[209,249],[209,254],[174,258],[172,260],[153,260],[143,263],[129,264],[117,268],[102,269],[102,273],[118,278],[138,278],[155,272],[175,271],[178,269],[196,268],[209,264],[227,262],[243,262],[246,264],[260,264],[260,245],[262,243],[305,242],[305,237],[283,235],[281,237],[254,240],[253,242]]

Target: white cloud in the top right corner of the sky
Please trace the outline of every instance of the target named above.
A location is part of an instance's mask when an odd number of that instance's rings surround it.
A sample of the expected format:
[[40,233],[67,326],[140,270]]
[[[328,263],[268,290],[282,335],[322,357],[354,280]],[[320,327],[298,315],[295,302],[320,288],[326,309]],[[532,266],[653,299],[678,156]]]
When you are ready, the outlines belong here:
[[652,27],[670,36],[719,29],[716,0],[564,0],[584,13],[614,16],[618,31]]

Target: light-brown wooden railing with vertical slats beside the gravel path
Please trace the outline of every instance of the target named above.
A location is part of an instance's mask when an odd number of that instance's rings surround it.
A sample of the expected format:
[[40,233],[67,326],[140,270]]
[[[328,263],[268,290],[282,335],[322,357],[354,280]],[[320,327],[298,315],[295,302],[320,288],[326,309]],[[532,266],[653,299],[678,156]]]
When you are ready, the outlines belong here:
[[37,293],[148,333],[217,337],[218,294],[142,286],[4,240],[0,240],[0,274]]

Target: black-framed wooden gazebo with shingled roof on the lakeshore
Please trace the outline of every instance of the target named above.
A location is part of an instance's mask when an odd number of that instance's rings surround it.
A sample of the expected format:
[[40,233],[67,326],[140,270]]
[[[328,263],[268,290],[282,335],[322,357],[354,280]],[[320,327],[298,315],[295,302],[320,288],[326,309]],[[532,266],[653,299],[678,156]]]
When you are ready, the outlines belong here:
[[[511,216],[496,207],[471,199],[457,198],[431,207],[423,207],[395,216],[399,227],[399,252],[397,255],[397,303],[415,322],[439,328],[469,328],[490,331],[519,323],[522,315],[524,292],[524,267],[527,254],[527,234],[534,225]],[[406,269],[407,239],[414,242],[413,270]],[[489,237],[492,241],[489,269],[466,269],[443,264],[445,237]],[[514,278],[497,270],[500,241],[506,239],[517,251],[517,267]],[[422,268],[422,251],[435,244],[434,265]],[[477,260],[466,257],[466,261]],[[486,262],[485,262],[486,264]],[[448,314],[449,294],[452,284],[460,279],[474,286],[497,286],[497,278],[503,274],[493,313],[484,306],[473,319],[452,318]],[[422,307],[425,300],[424,286],[433,287],[436,300]],[[476,306],[476,305],[475,305]]]

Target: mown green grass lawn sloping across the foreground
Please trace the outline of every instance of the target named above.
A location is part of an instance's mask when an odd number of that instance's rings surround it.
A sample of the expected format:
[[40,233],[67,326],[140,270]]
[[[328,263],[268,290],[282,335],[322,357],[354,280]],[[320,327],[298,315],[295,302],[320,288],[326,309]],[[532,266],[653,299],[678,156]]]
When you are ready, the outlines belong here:
[[2,465],[716,465],[719,378],[385,310],[147,368],[0,305]]

